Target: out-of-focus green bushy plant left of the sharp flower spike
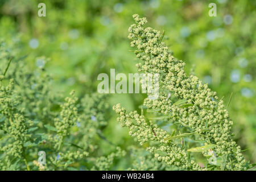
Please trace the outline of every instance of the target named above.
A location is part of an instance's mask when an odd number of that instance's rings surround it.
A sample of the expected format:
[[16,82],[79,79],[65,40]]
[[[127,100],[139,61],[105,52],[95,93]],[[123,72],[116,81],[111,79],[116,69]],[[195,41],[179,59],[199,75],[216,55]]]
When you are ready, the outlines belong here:
[[[125,155],[116,146],[110,155],[97,146],[108,121],[106,95],[79,99],[72,91],[63,101],[43,68],[31,71],[22,61],[26,56],[15,59],[4,46],[0,53],[1,170],[109,169]],[[39,151],[46,164],[38,162]]]

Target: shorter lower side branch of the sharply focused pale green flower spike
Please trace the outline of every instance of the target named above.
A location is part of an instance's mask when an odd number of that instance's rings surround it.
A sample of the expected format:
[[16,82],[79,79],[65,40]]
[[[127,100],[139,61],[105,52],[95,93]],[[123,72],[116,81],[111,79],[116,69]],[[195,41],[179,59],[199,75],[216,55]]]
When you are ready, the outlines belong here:
[[200,166],[193,160],[188,160],[188,154],[182,150],[174,142],[164,140],[169,138],[170,135],[160,129],[156,124],[151,121],[146,121],[143,115],[137,114],[137,111],[126,113],[120,104],[113,106],[113,110],[119,114],[117,120],[121,123],[122,127],[129,127],[129,135],[136,137],[141,145],[146,142],[154,142],[155,146],[147,147],[147,150],[155,154],[155,158],[163,161],[169,165],[183,167],[184,169],[198,170]]

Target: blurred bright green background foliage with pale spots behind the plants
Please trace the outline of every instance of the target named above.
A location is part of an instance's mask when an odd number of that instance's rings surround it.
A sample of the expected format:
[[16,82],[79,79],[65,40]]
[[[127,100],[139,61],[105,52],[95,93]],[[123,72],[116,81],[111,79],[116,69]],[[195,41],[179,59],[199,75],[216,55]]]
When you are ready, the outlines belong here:
[[[46,17],[38,4],[46,3]],[[217,16],[210,17],[209,3]],[[97,92],[99,73],[135,73],[137,59],[129,51],[127,29],[132,15],[146,16],[148,26],[165,31],[164,42],[195,75],[224,97],[234,121],[234,139],[246,159],[256,162],[256,1],[102,1],[0,0],[0,39],[20,48],[31,69],[44,67],[55,81],[52,88],[78,96]],[[138,110],[142,94],[112,94],[109,104]],[[106,138],[125,148],[134,143],[112,111]],[[108,143],[106,153],[111,147]]]

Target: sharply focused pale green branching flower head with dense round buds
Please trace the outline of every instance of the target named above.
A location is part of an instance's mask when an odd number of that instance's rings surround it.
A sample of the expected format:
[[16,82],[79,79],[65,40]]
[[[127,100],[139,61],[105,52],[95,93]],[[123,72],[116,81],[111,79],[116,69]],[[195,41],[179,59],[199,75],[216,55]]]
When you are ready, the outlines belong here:
[[[129,134],[138,139],[141,145],[158,160],[179,167],[180,169],[205,170],[226,169],[244,170],[247,164],[241,154],[240,146],[232,139],[233,122],[222,100],[194,75],[187,76],[185,63],[172,56],[171,51],[162,42],[164,32],[145,28],[146,18],[133,15],[136,24],[129,28],[131,47],[141,60],[136,66],[144,73],[159,73],[160,91],[156,100],[146,98],[147,110],[155,110],[164,115],[171,123],[183,127],[187,133],[170,134],[158,127],[152,119],[139,115],[137,111],[127,113],[121,105],[113,109],[119,114],[122,127],[130,129]],[[188,148],[184,138],[203,140],[203,146]],[[180,142],[177,142],[177,139]],[[191,152],[201,152],[207,159],[202,167],[196,163]],[[214,156],[216,154],[216,156]],[[214,162],[209,163],[209,158]]]

